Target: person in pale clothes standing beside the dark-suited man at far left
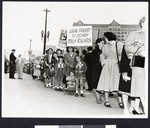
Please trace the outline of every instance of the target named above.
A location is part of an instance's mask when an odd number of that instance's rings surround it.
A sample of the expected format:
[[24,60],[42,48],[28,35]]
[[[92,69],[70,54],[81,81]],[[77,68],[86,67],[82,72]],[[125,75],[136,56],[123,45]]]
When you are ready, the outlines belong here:
[[22,79],[23,74],[23,58],[21,57],[21,54],[18,55],[18,58],[16,60],[16,69],[18,73],[18,79]]

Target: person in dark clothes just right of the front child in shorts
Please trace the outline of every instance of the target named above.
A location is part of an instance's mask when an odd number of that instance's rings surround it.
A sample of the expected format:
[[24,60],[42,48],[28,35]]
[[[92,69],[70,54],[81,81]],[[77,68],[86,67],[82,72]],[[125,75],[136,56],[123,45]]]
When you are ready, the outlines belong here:
[[92,91],[91,78],[92,78],[92,47],[87,48],[88,53],[85,55],[84,62],[87,64],[86,81],[88,84],[88,91]]

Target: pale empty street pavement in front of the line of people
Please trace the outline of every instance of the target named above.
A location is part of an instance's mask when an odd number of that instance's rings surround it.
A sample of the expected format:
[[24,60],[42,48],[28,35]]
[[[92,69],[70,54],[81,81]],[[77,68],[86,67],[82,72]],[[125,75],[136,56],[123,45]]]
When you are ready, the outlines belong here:
[[23,74],[23,80],[9,79],[9,74],[3,78],[2,117],[123,117],[117,97],[110,97],[112,108],[106,108],[103,103],[97,104],[90,92],[85,92],[85,98],[64,95],[64,92],[45,88],[43,82],[33,80],[28,74]]

